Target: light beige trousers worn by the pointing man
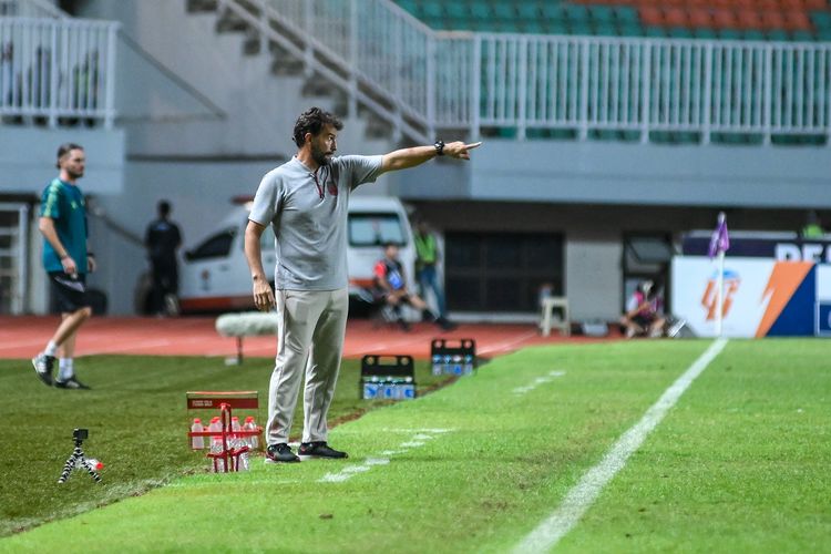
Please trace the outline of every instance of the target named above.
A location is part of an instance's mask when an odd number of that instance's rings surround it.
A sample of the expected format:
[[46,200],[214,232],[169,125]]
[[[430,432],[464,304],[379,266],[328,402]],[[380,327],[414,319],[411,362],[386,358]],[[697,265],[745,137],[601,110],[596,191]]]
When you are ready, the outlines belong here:
[[300,380],[304,390],[302,442],[326,441],[326,414],[343,352],[349,293],[277,290],[277,358],[268,388],[268,444],[288,442]]

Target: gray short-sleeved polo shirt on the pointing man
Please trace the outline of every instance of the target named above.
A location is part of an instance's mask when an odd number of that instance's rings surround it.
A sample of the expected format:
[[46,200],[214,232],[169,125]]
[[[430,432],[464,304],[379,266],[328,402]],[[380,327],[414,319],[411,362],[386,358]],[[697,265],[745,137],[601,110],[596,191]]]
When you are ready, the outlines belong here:
[[347,275],[349,194],[381,173],[383,156],[339,156],[314,174],[293,157],[259,183],[248,218],[271,224],[278,290],[336,290]]

